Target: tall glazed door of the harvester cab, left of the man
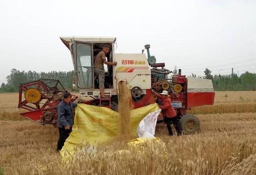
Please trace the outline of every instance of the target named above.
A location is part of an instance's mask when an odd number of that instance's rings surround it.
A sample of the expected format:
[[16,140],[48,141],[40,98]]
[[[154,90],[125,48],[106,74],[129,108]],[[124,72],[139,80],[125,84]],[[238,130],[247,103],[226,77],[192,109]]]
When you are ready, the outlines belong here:
[[93,51],[91,43],[74,41],[76,87],[94,89]]

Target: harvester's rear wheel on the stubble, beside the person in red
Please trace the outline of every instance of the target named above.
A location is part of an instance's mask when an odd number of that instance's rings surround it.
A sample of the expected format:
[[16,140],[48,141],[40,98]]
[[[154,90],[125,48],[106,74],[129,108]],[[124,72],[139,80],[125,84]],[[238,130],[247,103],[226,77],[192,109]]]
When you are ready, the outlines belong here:
[[200,129],[200,121],[195,115],[186,114],[180,118],[180,127],[184,134],[195,134]]

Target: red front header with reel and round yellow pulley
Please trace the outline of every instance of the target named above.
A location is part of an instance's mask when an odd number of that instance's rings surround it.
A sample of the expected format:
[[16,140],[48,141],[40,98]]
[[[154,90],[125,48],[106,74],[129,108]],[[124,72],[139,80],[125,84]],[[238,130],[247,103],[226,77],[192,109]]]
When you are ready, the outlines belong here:
[[[20,115],[38,124],[54,124],[58,116],[57,106],[62,100],[65,88],[60,81],[40,79],[21,83],[18,108],[29,110]],[[24,96],[23,96],[24,94]],[[72,100],[77,96],[72,95]]]

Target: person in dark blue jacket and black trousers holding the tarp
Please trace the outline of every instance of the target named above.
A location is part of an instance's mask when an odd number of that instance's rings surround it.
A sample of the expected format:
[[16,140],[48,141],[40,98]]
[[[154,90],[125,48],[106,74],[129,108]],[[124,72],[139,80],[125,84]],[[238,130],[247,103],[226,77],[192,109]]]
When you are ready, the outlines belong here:
[[60,151],[64,146],[66,139],[72,131],[74,124],[74,108],[77,103],[70,102],[71,94],[68,91],[63,93],[63,100],[58,105],[58,128],[59,128],[59,140],[57,145],[57,151]]

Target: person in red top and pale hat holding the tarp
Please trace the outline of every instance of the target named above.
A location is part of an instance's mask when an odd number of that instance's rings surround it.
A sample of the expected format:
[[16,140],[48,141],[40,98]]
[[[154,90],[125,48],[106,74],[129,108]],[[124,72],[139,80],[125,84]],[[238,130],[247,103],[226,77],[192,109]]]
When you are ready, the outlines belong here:
[[175,109],[172,107],[171,99],[168,97],[167,90],[163,90],[162,93],[158,94],[154,91],[154,94],[162,100],[162,106],[159,106],[160,109],[162,109],[162,114],[164,116],[164,120],[166,121],[167,129],[169,132],[169,136],[173,135],[171,124],[173,123],[174,128],[177,132],[177,135],[181,135],[181,129],[178,122],[177,114]]

